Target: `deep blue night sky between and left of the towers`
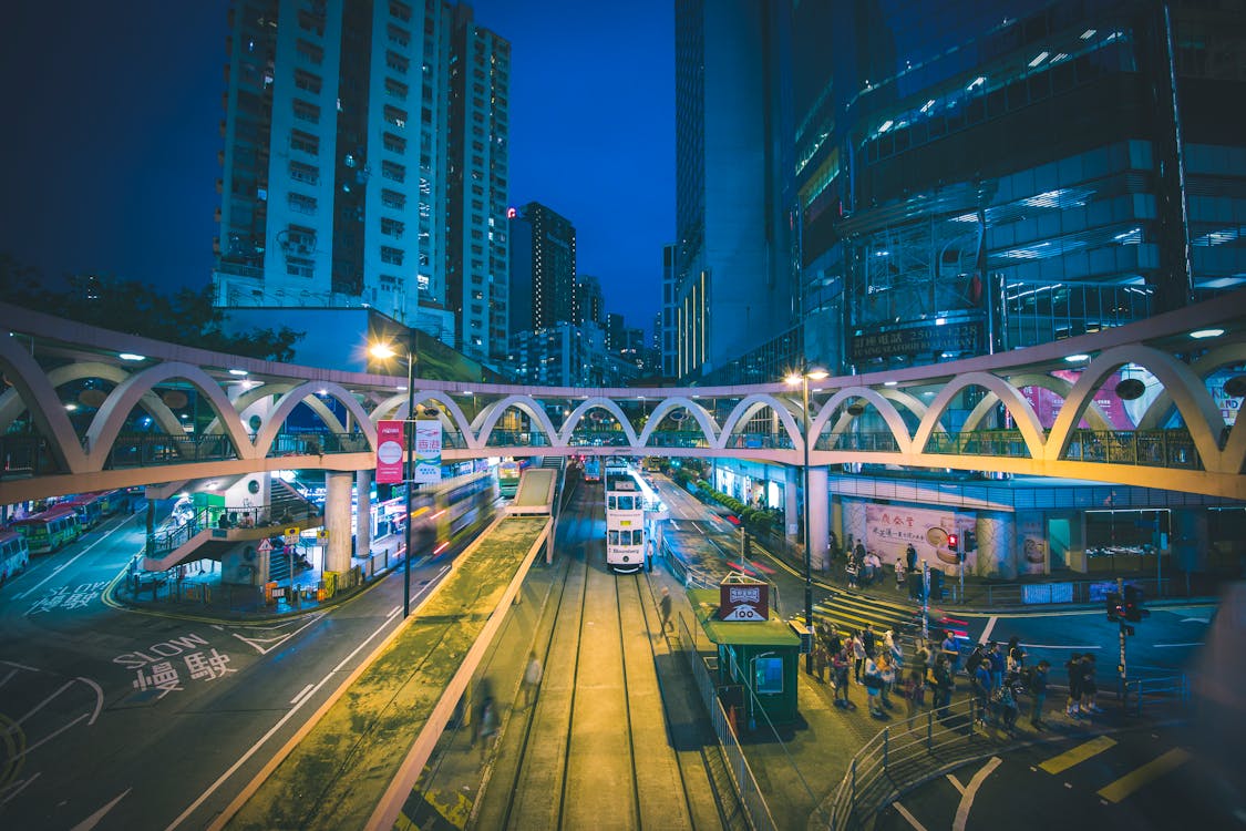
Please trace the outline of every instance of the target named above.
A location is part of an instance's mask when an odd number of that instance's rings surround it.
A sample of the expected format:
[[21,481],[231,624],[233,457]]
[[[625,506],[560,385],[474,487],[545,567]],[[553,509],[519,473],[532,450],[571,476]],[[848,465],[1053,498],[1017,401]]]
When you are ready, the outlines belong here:
[[[607,311],[650,330],[674,235],[674,9],[481,0],[511,41],[513,206],[571,219]],[[212,269],[224,0],[15,2],[0,26],[0,252],[173,290]]]

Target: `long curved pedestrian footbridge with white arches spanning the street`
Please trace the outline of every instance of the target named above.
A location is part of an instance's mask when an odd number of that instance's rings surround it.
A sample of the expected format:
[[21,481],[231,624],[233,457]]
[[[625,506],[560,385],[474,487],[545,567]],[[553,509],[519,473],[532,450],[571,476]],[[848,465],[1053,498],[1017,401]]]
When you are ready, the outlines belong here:
[[[0,503],[375,466],[405,379],[164,344],[0,304]],[[1192,336],[1195,333],[1207,335]],[[1219,334],[1207,334],[1219,333]],[[137,359],[141,356],[141,359]],[[442,458],[660,455],[958,468],[1246,498],[1246,292],[1027,350],[811,382],[584,389],[416,379]],[[1226,419],[1226,414],[1230,417]],[[807,419],[807,431],[806,431]],[[188,430],[188,425],[191,430]],[[295,426],[297,425],[297,426]]]

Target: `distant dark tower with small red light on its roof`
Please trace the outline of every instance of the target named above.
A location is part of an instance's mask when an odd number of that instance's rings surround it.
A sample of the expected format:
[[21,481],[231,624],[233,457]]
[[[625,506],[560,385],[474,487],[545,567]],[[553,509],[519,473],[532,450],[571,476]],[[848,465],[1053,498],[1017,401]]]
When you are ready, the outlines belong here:
[[[576,227],[540,202],[530,202],[511,214],[515,249],[511,268],[516,274],[511,292],[516,309],[531,306],[531,316],[511,315],[511,329],[547,329],[556,323],[574,324]],[[526,298],[518,298],[526,292]]]

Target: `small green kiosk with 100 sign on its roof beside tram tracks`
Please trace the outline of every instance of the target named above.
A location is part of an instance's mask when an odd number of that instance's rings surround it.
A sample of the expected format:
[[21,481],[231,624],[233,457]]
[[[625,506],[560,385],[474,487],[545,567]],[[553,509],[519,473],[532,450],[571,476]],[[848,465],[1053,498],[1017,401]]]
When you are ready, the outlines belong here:
[[[743,713],[736,724],[755,729],[796,720],[800,637],[770,612],[770,586],[728,574],[716,589],[689,589],[688,599],[705,637],[718,648],[723,706]],[[711,673],[713,674],[713,673]]]

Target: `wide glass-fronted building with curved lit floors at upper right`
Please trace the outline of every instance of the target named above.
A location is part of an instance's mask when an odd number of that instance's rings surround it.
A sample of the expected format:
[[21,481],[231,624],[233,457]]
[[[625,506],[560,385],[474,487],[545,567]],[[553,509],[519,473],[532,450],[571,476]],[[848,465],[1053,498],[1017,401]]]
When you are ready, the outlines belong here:
[[[1224,4],[791,4],[805,343],[844,370],[1093,333],[1246,280]],[[1239,61],[1240,64],[1240,61]]]

